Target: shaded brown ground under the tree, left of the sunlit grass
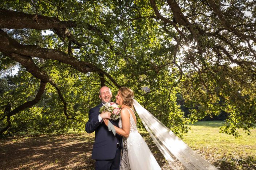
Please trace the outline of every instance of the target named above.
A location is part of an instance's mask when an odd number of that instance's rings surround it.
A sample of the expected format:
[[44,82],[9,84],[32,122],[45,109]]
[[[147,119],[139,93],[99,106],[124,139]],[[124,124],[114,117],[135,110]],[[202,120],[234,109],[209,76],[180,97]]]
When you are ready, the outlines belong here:
[[[146,134],[159,165],[171,169]],[[0,169],[94,169],[92,146],[94,134],[64,134],[9,137],[0,140]]]

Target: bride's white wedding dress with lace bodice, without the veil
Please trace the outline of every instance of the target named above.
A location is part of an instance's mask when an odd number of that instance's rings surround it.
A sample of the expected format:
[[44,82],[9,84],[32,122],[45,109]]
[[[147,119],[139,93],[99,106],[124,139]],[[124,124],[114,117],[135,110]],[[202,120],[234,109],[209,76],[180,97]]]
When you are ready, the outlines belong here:
[[[130,109],[127,110],[130,114],[131,128],[129,137],[123,137],[123,156],[120,170],[161,170],[149,146],[147,146],[145,140],[137,131],[137,126]],[[122,128],[121,119],[118,126]]]

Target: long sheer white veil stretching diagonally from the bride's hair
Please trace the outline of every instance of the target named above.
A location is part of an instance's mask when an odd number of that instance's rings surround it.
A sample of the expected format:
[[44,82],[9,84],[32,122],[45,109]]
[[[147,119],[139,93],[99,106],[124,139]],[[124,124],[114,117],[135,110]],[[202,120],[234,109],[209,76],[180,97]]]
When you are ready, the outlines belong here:
[[[151,138],[171,166],[175,166],[174,162],[178,159],[188,170],[217,170],[215,166],[200,157],[135,99],[133,99],[133,106]],[[179,167],[175,166],[175,169],[179,169]]]

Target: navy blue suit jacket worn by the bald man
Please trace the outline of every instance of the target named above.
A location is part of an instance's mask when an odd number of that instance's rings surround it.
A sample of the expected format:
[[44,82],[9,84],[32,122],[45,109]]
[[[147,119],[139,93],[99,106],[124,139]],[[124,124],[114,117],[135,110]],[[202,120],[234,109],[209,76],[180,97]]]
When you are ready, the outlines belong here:
[[[94,160],[111,160],[115,158],[117,150],[117,143],[122,146],[122,136],[113,135],[113,132],[109,131],[104,122],[99,122],[99,108],[103,106],[100,103],[98,106],[93,107],[89,111],[89,120],[86,122],[85,131],[92,133],[95,131],[95,142],[93,145],[92,159]],[[118,120],[110,122],[118,127]]]

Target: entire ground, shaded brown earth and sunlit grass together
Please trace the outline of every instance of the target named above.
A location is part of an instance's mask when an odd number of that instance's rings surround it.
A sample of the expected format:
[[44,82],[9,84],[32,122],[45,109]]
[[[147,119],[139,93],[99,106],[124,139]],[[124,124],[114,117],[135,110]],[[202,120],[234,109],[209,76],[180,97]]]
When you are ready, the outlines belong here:
[[[219,133],[220,121],[190,125],[184,141],[213,165],[223,170],[256,169],[256,129],[239,138]],[[141,133],[162,170],[170,166],[148,133]],[[12,136],[0,139],[0,169],[94,169],[94,134]]]

